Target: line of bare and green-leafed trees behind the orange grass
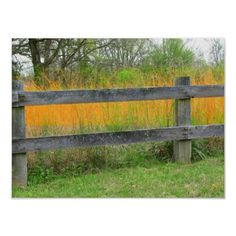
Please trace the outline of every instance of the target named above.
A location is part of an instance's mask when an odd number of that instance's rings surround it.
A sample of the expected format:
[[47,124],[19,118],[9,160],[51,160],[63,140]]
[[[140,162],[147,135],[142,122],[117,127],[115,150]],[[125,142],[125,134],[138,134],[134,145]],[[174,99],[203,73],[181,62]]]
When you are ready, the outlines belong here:
[[[224,64],[224,45],[219,39],[211,43],[211,62]],[[182,39],[40,39],[12,40],[13,76],[19,75],[24,63],[31,63],[35,81],[50,71],[117,70],[123,67],[177,68],[203,62]]]

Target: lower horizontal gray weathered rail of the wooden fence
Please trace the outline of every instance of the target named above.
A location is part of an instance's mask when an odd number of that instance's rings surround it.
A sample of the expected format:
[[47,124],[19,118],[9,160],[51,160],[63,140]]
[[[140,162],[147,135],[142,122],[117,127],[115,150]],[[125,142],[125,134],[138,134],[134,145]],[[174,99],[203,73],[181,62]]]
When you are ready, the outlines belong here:
[[91,147],[139,142],[185,140],[223,135],[224,125],[178,126],[149,130],[14,139],[12,147],[13,153],[21,153],[72,147]]

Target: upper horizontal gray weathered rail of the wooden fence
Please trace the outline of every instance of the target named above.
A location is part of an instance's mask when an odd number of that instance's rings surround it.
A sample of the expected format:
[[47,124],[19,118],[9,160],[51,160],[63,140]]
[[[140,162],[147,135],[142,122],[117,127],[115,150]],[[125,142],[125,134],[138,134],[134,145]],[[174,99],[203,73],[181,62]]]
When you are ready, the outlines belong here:
[[13,93],[12,106],[121,102],[224,96],[223,85],[67,90]]

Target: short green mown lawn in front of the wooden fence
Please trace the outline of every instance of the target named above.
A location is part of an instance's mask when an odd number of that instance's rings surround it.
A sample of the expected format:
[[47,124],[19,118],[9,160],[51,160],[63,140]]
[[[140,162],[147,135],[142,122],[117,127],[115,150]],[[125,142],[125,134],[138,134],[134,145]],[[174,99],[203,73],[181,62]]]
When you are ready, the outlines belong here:
[[13,197],[224,197],[224,158],[122,168],[14,188]]

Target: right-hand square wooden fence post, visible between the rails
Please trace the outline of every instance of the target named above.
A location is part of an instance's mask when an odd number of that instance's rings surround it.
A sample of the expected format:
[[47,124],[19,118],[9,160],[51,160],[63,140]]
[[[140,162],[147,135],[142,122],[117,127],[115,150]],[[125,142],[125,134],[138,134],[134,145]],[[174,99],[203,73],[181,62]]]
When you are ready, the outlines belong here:
[[[176,78],[174,86],[188,86],[190,85],[189,77]],[[175,100],[175,126],[188,126],[191,120],[190,112],[190,98]],[[191,140],[174,141],[174,159],[178,163],[191,162]]]

